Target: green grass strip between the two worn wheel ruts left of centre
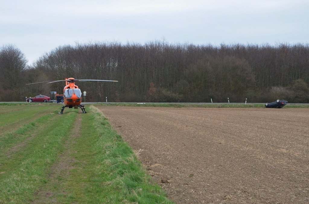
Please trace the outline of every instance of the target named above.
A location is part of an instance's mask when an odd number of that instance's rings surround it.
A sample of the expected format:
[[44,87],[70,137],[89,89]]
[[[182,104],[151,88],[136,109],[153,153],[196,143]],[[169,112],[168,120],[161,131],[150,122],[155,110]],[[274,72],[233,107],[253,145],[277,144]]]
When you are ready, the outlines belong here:
[[72,128],[76,114],[70,112],[50,120],[44,131],[32,129],[34,138],[13,157],[1,157],[0,203],[27,203],[34,199],[34,192],[46,181],[49,167],[63,150],[63,141]]

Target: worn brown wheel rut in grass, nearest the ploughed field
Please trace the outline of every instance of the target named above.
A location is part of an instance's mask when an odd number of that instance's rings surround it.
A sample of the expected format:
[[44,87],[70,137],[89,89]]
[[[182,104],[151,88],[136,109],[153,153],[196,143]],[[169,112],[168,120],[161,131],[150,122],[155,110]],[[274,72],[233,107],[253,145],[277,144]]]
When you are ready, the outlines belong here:
[[67,194],[62,188],[62,183],[67,179],[75,159],[71,157],[74,152],[72,146],[76,143],[75,139],[80,137],[80,129],[82,124],[81,114],[77,114],[73,129],[70,132],[63,148],[64,151],[58,153],[57,162],[51,167],[51,173],[47,178],[47,183],[36,192],[36,199],[31,203],[56,203],[57,197]]

